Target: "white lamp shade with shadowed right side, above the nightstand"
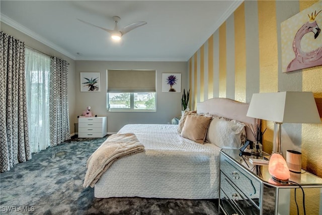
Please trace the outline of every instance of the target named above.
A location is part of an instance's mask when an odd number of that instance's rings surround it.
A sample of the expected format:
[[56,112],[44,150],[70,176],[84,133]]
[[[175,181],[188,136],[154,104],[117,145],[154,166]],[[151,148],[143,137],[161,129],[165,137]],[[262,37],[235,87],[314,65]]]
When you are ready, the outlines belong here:
[[321,122],[312,92],[254,93],[247,116],[281,123]]

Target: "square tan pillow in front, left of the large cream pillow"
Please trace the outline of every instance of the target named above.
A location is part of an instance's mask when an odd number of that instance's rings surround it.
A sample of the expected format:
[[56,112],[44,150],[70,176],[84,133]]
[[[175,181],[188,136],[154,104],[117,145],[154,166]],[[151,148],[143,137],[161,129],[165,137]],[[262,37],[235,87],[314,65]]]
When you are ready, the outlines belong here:
[[181,136],[204,144],[207,128],[212,117],[189,114],[186,117]]

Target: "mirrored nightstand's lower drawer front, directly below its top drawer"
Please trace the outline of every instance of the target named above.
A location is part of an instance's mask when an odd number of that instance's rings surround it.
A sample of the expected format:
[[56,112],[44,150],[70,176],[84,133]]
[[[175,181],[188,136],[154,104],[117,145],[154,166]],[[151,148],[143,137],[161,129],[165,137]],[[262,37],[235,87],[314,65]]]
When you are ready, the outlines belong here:
[[238,189],[223,173],[220,175],[220,203],[224,200],[229,200],[238,214],[260,214],[258,206],[255,206],[253,201]]

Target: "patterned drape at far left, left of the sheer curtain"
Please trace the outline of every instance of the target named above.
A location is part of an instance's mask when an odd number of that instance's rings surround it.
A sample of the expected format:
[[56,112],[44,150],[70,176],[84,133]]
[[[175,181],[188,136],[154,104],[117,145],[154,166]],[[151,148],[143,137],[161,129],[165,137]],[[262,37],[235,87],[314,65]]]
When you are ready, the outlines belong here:
[[31,159],[25,80],[25,43],[0,36],[1,172]]

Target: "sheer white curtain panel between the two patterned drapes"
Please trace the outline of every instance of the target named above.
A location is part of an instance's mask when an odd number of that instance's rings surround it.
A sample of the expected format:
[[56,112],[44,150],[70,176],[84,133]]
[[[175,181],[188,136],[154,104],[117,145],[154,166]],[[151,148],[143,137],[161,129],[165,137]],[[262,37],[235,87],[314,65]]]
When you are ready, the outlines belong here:
[[31,153],[49,145],[50,56],[26,47],[26,88]]

